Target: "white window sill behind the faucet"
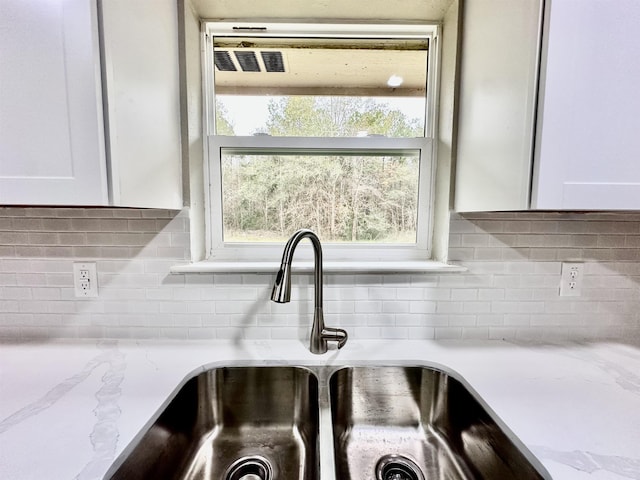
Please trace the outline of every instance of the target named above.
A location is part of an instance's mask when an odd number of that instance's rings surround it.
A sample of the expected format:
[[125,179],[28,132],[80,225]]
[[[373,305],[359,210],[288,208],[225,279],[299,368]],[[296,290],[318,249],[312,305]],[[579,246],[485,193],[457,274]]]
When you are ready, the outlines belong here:
[[[466,267],[432,260],[404,262],[323,262],[323,273],[372,274],[372,273],[460,273]],[[221,262],[202,261],[171,267],[173,274],[185,273],[273,273],[280,262]],[[293,262],[293,271],[310,273],[313,262]]]

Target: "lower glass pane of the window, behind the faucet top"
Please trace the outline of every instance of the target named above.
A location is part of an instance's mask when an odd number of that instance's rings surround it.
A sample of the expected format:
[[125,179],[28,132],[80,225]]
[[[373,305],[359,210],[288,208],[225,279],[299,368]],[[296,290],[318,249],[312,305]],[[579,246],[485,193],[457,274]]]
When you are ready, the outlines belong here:
[[283,242],[299,228],[324,242],[416,242],[419,151],[222,149],[225,242]]

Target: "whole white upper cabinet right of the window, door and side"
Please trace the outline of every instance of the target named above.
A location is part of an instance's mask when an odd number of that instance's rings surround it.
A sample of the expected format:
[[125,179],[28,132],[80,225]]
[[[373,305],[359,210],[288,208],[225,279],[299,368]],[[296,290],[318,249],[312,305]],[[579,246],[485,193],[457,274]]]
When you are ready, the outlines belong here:
[[544,4],[465,4],[454,207],[640,210],[640,2]]

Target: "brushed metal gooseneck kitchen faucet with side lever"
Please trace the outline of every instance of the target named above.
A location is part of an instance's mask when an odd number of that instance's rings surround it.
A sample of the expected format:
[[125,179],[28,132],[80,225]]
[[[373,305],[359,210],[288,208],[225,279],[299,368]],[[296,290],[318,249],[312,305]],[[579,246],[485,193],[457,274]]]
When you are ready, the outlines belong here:
[[324,316],[322,314],[322,246],[318,236],[311,230],[298,230],[285,245],[280,270],[271,292],[271,300],[277,303],[291,301],[291,261],[293,260],[293,252],[303,238],[311,240],[314,254],[313,279],[315,295],[309,350],[311,350],[311,353],[326,353],[328,349],[327,343],[330,341],[338,342],[338,348],[344,347],[344,344],[347,343],[347,332],[341,328],[324,326]]

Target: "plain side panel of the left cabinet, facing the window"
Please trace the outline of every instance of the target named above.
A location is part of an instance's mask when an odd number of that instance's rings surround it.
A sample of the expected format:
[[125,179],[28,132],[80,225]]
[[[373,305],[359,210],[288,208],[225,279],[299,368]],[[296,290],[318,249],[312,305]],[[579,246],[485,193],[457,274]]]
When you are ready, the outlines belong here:
[[113,204],[182,208],[176,1],[101,6]]

